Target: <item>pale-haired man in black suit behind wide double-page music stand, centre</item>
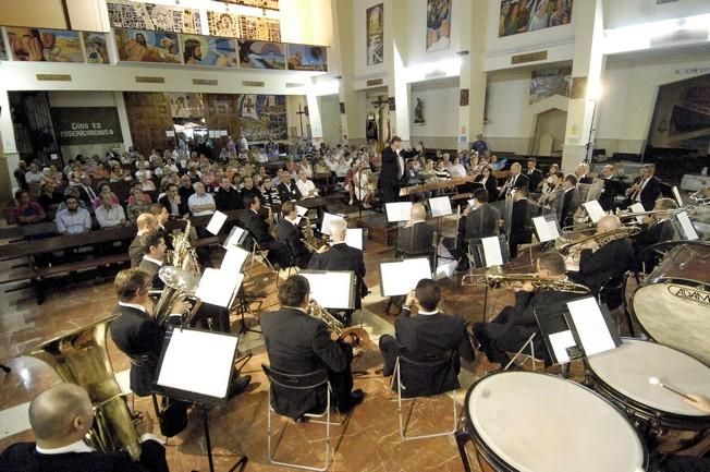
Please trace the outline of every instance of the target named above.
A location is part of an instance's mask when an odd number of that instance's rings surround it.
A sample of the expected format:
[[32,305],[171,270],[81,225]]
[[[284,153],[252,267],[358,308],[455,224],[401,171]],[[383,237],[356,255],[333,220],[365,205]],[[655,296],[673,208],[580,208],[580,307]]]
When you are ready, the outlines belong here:
[[363,307],[362,299],[367,294],[365,286],[365,259],[363,251],[345,244],[347,223],[344,219],[330,222],[330,246],[320,247],[308,263],[313,270],[352,270],[355,273],[355,310]]

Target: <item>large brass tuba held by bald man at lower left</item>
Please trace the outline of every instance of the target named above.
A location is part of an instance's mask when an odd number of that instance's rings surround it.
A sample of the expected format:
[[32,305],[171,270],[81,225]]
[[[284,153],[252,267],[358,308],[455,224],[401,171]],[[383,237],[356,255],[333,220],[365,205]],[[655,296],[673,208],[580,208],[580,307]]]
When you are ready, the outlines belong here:
[[140,438],[133,423],[125,394],[115,380],[106,348],[106,331],[115,316],[51,339],[24,352],[49,364],[66,383],[83,387],[95,410],[94,426],[86,435],[96,450],[126,450],[133,460],[140,457]]

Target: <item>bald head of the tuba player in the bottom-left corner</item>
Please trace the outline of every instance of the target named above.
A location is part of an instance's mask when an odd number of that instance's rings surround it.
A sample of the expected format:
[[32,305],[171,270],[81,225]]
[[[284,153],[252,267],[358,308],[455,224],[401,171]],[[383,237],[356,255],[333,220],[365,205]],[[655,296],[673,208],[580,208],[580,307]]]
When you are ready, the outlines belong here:
[[94,412],[86,390],[74,384],[58,384],[29,403],[29,424],[40,444],[72,444],[91,427]]

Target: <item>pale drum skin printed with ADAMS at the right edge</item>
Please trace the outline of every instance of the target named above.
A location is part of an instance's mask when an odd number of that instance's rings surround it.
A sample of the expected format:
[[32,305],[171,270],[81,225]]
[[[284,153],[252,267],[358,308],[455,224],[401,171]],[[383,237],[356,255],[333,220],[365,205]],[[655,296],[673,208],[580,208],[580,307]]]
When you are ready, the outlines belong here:
[[666,280],[639,287],[632,307],[656,341],[710,365],[710,293],[687,283]]

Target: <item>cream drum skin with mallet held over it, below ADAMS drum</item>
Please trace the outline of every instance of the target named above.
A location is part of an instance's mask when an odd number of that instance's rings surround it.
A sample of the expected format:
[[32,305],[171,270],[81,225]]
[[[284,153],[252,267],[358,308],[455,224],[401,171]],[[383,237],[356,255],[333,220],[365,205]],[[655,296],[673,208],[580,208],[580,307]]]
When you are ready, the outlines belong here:
[[681,397],[650,385],[649,377],[681,391],[710,391],[710,368],[675,349],[638,339],[587,359],[589,368],[604,384],[623,396],[665,413],[708,416]]

